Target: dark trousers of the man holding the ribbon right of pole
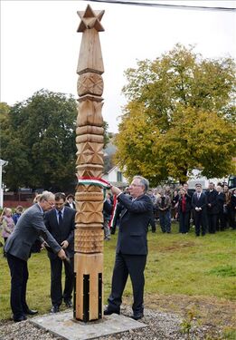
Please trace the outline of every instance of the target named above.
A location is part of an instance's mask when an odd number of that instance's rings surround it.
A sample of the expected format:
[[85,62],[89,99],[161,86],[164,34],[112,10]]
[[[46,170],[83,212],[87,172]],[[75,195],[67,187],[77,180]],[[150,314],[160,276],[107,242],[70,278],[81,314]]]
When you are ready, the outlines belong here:
[[144,271],[146,267],[146,255],[126,255],[117,253],[113,269],[111,293],[109,296],[108,308],[119,311],[122,303],[122,295],[127,283],[127,276],[130,276],[133,287],[133,312],[143,312],[144,306]]

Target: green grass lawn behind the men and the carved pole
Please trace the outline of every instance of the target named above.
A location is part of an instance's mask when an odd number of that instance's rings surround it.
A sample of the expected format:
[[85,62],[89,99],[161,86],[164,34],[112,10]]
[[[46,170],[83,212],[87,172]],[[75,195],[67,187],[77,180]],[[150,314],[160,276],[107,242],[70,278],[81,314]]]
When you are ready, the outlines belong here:
[[[200,296],[214,301],[231,302],[236,296],[235,231],[227,230],[204,238],[195,238],[193,229],[187,235],[148,232],[149,254],[146,265],[145,296]],[[117,235],[104,248],[104,304],[110,291]],[[28,261],[28,305],[41,314],[51,307],[50,267],[45,251],[33,254]],[[0,248],[0,319],[9,319],[10,275],[3,248]],[[130,281],[124,298],[130,300]],[[158,307],[158,306],[157,306]]]

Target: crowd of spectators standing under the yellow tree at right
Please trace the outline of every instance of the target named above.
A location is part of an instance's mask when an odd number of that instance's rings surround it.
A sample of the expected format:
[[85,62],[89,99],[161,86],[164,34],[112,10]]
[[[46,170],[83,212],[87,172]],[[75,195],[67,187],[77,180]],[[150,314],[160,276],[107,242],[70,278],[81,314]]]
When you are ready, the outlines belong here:
[[147,194],[153,202],[155,220],[159,221],[164,233],[171,232],[173,220],[178,221],[182,234],[188,233],[192,224],[196,236],[200,236],[200,232],[204,236],[206,232],[214,234],[236,228],[236,190],[230,191],[226,184],[215,186],[211,182],[209,188],[203,190],[202,185],[196,183],[193,190],[184,183],[177,189],[166,186],[149,190]]

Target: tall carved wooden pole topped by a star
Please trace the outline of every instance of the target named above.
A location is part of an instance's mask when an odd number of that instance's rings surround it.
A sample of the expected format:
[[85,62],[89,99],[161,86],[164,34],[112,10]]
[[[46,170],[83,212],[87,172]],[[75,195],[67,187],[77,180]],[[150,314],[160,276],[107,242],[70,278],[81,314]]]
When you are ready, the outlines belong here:
[[[103,120],[101,115],[104,72],[99,32],[104,11],[90,5],[78,12],[82,33],[77,67],[79,79],[78,118],[76,129],[79,178],[100,178],[103,171]],[[75,194],[75,296],[74,318],[88,322],[103,316],[103,193],[94,185],[79,184]]]

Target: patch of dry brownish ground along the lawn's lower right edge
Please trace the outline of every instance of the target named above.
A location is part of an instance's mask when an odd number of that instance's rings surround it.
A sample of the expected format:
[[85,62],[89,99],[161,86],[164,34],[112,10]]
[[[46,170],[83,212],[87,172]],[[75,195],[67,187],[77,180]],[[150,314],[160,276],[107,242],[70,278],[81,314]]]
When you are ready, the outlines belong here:
[[[126,297],[125,304],[132,305]],[[236,335],[235,301],[208,297],[184,295],[146,295],[146,308],[177,314],[186,322],[189,315],[194,316],[192,327],[207,329],[206,339],[234,339]],[[225,334],[230,332],[229,337]],[[222,336],[219,337],[219,333]],[[209,337],[210,336],[210,337]]]

